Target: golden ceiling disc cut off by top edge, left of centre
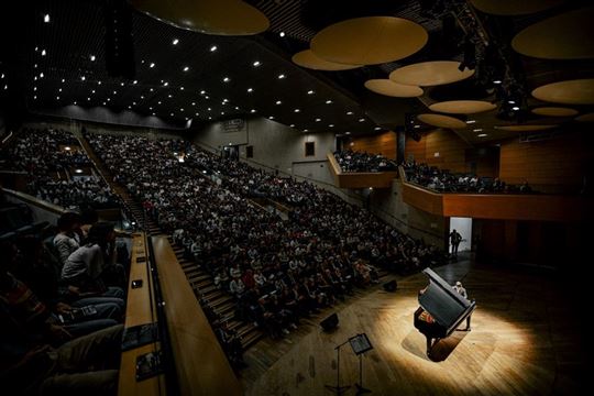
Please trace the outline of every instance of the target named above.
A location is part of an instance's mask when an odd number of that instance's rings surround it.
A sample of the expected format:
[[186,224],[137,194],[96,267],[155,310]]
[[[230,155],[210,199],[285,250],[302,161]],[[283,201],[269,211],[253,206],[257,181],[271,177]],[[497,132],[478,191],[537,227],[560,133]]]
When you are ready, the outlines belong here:
[[128,1],[160,21],[205,34],[252,35],[270,26],[266,15],[240,0]]

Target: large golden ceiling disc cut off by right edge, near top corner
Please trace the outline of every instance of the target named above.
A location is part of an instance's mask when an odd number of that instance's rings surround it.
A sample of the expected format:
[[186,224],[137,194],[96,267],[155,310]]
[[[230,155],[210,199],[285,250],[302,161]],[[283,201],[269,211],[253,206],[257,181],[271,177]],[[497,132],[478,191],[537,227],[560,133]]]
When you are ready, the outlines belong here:
[[594,7],[565,12],[526,28],[512,40],[512,47],[522,55],[543,59],[593,58],[592,21]]

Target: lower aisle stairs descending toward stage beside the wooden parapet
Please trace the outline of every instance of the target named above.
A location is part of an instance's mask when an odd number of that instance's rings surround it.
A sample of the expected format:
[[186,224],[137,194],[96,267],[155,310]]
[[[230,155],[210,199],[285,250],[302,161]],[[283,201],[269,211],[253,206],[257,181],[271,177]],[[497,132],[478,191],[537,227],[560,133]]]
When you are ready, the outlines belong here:
[[217,316],[219,322],[228,322],[229,329],[234,330],[241,337],[243,349],[254,344],[264,334],[254,324],[235,319],[235,300],[227,293],[219,290],[212,282],[212,277],[204,272],[193,260],[184,255],[184,248],[178,246],[172,237],[168,237],[174,253],[186,274],[196,298],[205,309],[210,309]]

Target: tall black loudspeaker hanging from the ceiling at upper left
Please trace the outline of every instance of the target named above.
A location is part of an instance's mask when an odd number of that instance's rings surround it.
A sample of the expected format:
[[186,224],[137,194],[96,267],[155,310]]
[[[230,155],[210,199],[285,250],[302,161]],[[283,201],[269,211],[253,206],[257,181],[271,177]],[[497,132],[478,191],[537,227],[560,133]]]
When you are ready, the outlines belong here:
[[133,79],[136,74],[132,41],[132,10],[125,0],[106,0],[106,68],[111,77]]

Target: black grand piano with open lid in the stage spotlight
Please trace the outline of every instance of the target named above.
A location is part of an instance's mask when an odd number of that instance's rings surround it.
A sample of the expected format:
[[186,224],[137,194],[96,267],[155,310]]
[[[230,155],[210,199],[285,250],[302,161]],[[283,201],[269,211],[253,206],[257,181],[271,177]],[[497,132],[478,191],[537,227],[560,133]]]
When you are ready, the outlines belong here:
[[427,355],[442,338],[449,337],[464,319],[470,330],[471,314],[476,302],[462,297],[432,270],[422,271],[429,286],[419,293],[420,307],[415,311],[415,327],[427,338]]

